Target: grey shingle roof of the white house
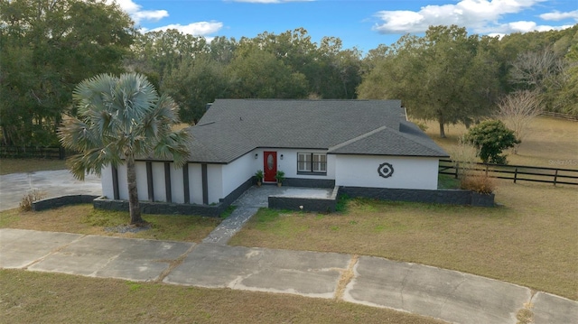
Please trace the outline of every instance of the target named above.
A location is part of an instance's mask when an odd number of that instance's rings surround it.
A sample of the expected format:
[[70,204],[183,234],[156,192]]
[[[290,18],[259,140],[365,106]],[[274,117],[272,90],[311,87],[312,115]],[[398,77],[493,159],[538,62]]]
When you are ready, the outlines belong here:
[[191,162],[232,162],[256,147],[447,156],[399,100],[218,99],[190,130]]

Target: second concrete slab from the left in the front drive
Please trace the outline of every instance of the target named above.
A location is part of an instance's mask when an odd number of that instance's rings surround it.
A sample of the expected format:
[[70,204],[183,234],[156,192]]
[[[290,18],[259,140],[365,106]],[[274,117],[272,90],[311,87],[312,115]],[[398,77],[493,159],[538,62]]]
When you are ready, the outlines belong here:
[[131,281],[154,281],[193,243],[85,236],[29,267],[33,271],[70,273]]

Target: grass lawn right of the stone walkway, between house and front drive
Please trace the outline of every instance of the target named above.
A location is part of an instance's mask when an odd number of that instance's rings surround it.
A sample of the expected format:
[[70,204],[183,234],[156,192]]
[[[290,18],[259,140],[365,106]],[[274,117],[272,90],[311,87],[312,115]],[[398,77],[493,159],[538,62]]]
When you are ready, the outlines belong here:
[[261,209],[229,244],[375,255],[578,300],[578,190],[497,183],[499,208],[350,199],[331,215]]

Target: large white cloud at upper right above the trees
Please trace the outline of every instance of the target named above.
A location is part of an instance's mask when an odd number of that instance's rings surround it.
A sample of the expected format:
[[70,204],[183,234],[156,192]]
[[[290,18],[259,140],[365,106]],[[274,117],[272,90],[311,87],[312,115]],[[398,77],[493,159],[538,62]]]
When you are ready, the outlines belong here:
[[[382,21],[373,30],[380,33],[425,32],[430,25],[457,24],[485,34],[508,32],[547,31],[563,29],[534,22],[499,23],[507,14],[517,14],[545,0],[461,0],[455,5],[426,5],[419,11],[380,11],[376,16]],[[551,13],[546,17],[567,18],[578,12]],[[564,19],[561,18],[561,19]],[[545,19],[545,18],[543,18]]]

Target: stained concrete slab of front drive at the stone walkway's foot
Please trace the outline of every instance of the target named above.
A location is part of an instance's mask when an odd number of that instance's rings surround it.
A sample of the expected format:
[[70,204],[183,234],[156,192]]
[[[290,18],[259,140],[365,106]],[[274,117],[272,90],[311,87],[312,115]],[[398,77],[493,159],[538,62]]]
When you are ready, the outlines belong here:
[[200,244],[163,282],[333,298],[350,255]]

